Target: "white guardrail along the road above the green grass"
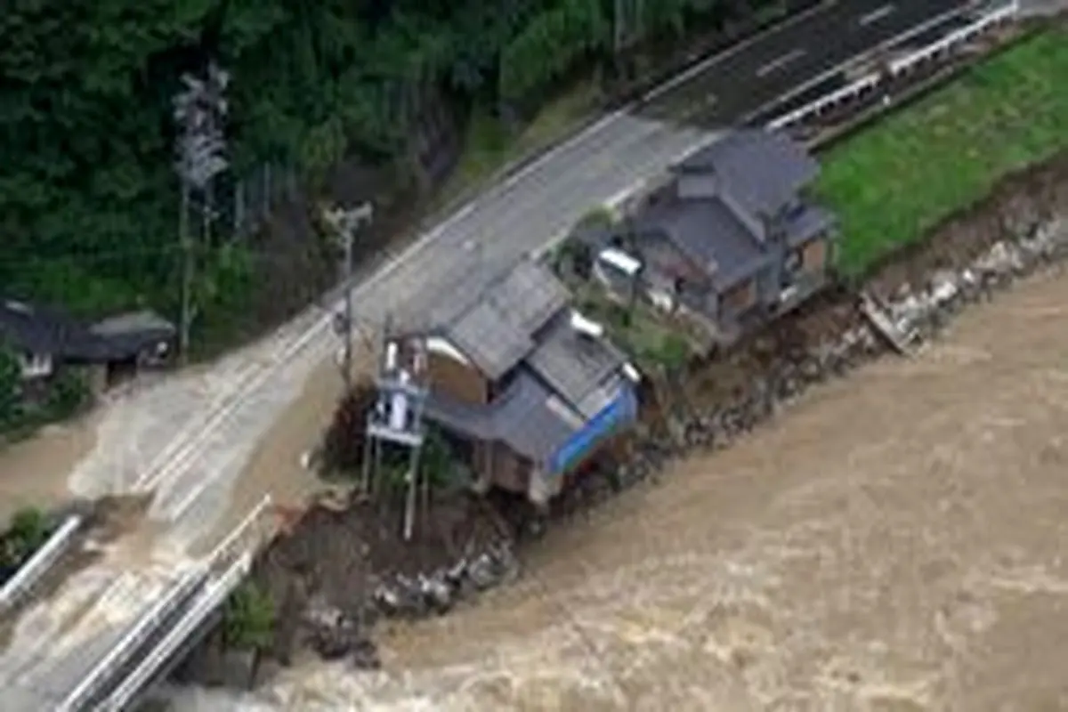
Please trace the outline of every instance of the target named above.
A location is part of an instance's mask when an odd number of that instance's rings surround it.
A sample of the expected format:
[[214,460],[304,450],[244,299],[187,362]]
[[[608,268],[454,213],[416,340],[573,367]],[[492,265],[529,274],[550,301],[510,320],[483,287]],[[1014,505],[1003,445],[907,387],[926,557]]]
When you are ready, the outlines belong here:
[[1012,2],[991,11],[971,25],[954,30],[938,42],[890,62],[888,72],[873,72],[865,75],[842,89],[835,90],[834,92],[831,92],[815,101],[806,104],[799,109],[795,109],[789,113],[772,120],[768,123],[767,127],[771,130],[781,130],[806,118],[818,115],[827,109],[835,107],[843,101],[858,97],[863,92],[874,89],[889,79],[899,77],[902,74],[910,72],[921,63],[928,62],[943,52],[971,41],[975,36],[993,27],[1011,22],[1019,16],[1019,14],[1020,2],[1019,0],[1012,0]]

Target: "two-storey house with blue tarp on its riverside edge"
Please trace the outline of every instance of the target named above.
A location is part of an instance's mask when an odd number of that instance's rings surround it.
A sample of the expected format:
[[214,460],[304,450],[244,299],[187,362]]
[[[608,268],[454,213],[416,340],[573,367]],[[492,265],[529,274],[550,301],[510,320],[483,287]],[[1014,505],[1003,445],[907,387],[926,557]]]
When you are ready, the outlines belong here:
[[637,370],[532,260],[402,323],[390,344],[421,362],[422,417],[466,444],[482,489],[545,504],[637,418]]

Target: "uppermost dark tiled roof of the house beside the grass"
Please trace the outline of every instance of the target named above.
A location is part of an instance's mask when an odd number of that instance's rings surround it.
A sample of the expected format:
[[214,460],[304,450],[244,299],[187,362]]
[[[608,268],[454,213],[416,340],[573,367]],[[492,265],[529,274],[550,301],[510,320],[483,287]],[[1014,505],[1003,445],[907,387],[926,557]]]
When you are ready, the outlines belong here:
[[782,133],[738,129],[696,152],[680,172],[714,171],[723,189],[753,217],[772,215],[816,178],[819,163]]

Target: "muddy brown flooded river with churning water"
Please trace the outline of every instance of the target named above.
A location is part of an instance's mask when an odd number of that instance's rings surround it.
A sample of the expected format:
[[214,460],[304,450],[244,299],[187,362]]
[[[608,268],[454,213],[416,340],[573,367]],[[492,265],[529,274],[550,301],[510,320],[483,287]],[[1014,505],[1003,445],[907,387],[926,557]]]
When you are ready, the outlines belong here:
[[525,573],[183,710],[1068,709],[1068,279],[552,531]]

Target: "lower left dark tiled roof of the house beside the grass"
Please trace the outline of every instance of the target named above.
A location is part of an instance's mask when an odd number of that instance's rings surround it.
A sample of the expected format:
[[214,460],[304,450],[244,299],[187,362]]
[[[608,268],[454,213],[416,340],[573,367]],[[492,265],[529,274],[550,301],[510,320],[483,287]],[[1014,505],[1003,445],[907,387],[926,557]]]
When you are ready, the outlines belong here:
[[756,237],[714,197],[658,205],[637,226],[664,235],[720,288],[748,276],[764,254]]

